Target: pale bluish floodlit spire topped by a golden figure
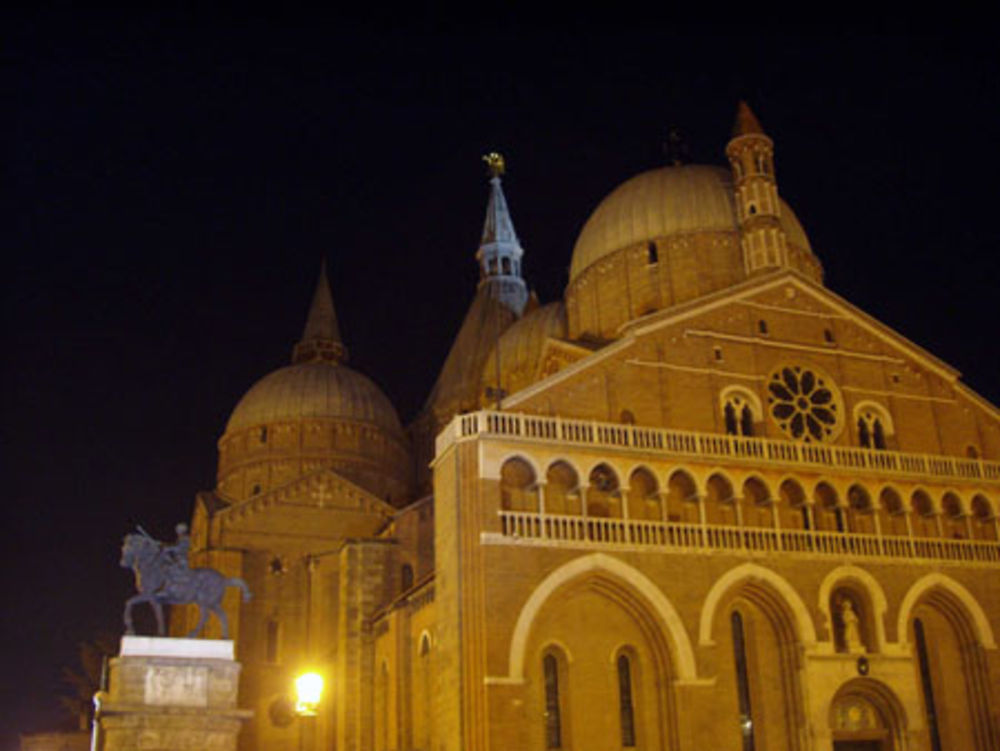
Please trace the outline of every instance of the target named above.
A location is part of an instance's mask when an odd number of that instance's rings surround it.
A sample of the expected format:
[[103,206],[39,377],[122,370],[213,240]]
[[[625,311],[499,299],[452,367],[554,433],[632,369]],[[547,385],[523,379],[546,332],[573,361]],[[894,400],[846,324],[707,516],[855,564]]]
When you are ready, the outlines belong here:
[[520,316],[528,302],[528,287],[521,276],[524,249],[514,232],[514,222],[500,184],[505,169],[504,159],[500,154],[491,152],[483,157],[483,161],[490,172],[490,199],[476,252],[479,286],[494,287],[495,296]]

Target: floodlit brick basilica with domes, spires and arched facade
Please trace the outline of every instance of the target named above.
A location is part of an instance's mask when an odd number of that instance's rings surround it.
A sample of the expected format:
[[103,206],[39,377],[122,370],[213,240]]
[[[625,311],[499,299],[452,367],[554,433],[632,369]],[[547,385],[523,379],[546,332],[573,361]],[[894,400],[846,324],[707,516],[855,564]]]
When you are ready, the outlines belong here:
[[241,748],[1000,748],[1000,410],[824,286],[745,104],[722,147],[604,198],[547,304],[490,155],[409,425],[320,275],[193,510],[254,593]]

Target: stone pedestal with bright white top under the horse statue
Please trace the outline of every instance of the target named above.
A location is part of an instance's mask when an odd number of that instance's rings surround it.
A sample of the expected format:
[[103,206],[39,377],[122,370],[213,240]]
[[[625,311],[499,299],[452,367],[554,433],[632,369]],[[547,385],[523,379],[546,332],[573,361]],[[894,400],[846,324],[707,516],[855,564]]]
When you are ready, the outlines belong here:
[[95,697],[102,751],[236,751],[253,712],[236,707],[231,641],[124,636],[110,664]]

